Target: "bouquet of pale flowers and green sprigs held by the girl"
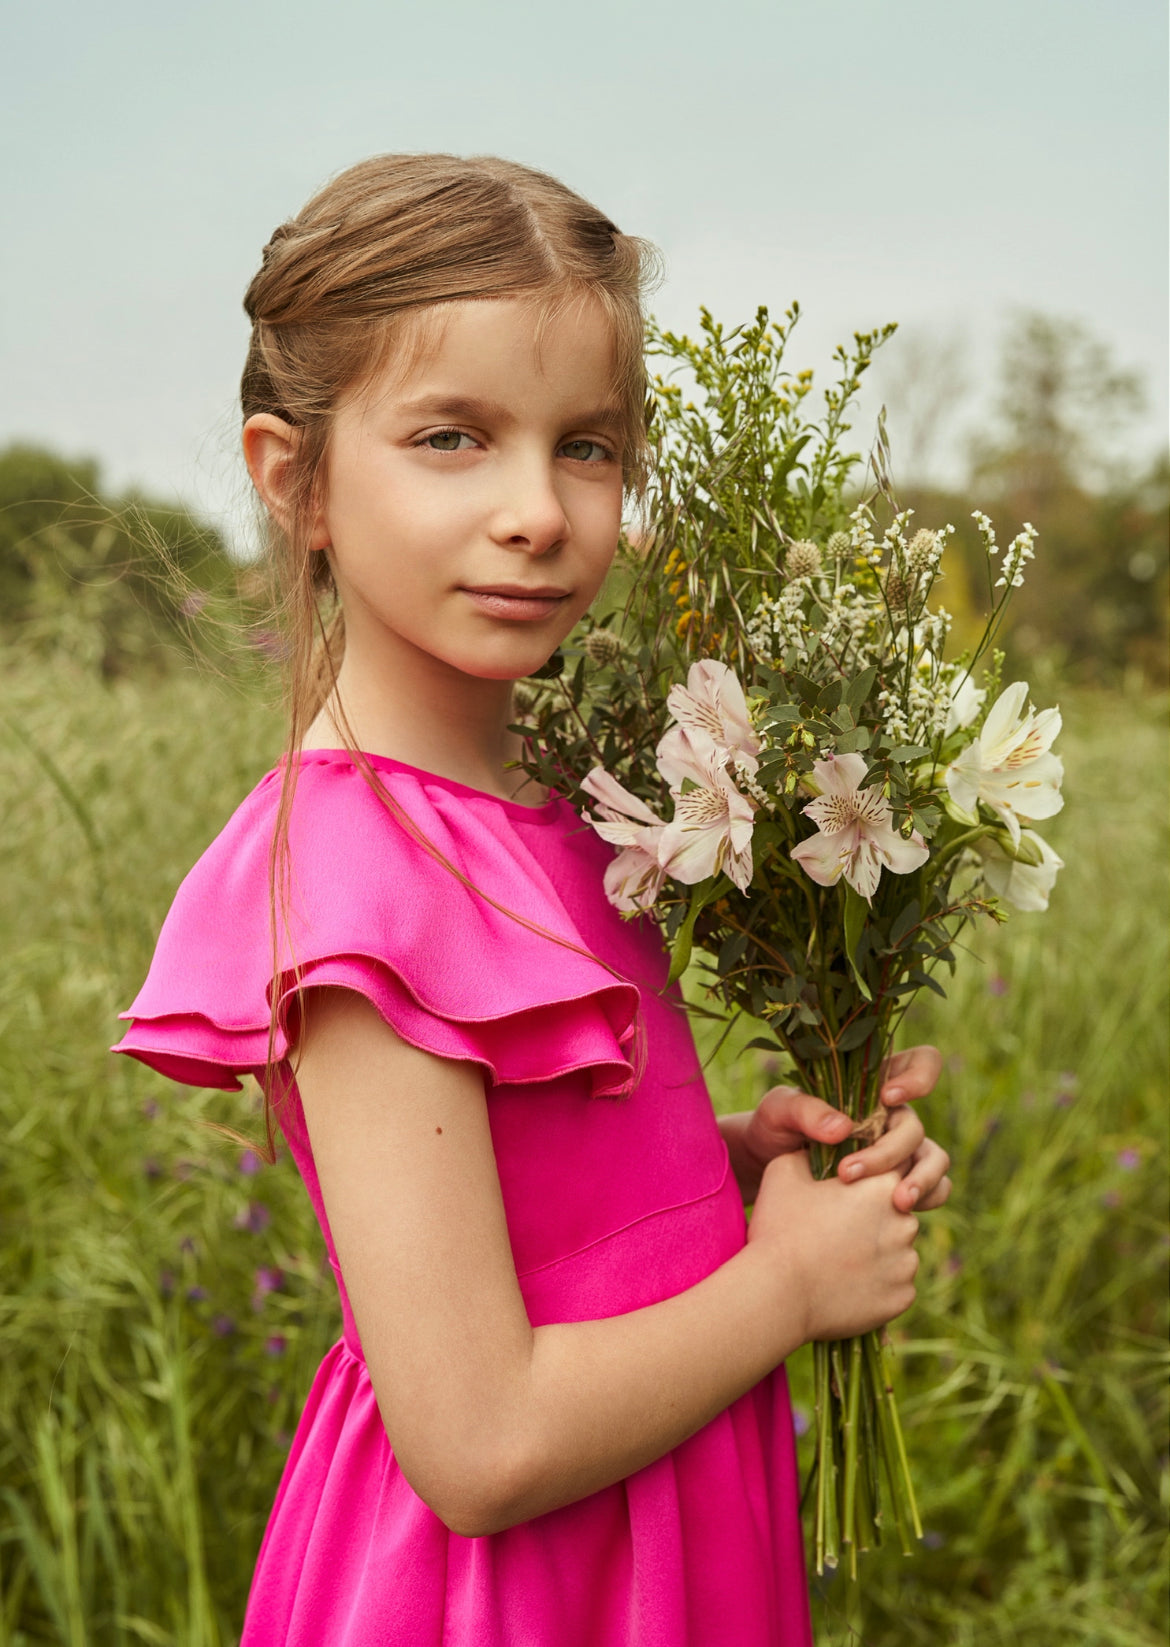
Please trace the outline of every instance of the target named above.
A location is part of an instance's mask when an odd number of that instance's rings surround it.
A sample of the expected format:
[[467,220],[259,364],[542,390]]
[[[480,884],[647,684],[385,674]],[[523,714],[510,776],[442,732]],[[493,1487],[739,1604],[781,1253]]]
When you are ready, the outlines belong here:
[[[1033,824],[1063,805],[1060,713],[1023,682],[1002,688],[994,651],[1035,530],[1000,552],[976,512],[989,611],[948,659],[933,596],[954,529],[911,530],[882,418],[868,494],[842,446],[893,328],[837,351],[812,422],[812,374],[783,364],[796,318],[761,308],[723,334],[704,310],[699,343],[651,323],[651,352],[692,374],[702,405],[654,377],[626,600],[587,619],[572,667],[526,688],[517,730],[532,776],[575,791],[620,848],[606,894],[662,926],[671,980],[694,959],[728,1026],[748,1015],[751,1044],[852,1118],[849,1151],[882,1131],[882,1062],[915,993],[943,993],[964,924],[1046,907],[1061,860]],[[814,1171],[839,1153],[812,1146]],[[877,1332],[814,1346],[817,1571],[847,1550],[855,1573],[883,1505],[906,1553],[921,1537],[888,1357]]]

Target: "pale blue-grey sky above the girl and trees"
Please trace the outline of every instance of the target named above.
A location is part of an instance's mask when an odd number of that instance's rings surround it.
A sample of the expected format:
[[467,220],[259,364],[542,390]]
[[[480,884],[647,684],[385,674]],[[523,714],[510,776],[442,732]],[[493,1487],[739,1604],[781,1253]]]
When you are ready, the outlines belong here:
[[[0,13],[0,443],[92,455],[109,486],[226,517],[260,247],[328,176],[394,150],[560,176],[658,242],[653,310],[676,329],[700,303],[730,326],[799,298],[794,367],[896,320],[920,343],[962,334],[985,389],[1013,308],[1081,320],[1147,379],[1139,445],[1165,441],[1162,0]],[[961,420],[943,433],[946,468]]]

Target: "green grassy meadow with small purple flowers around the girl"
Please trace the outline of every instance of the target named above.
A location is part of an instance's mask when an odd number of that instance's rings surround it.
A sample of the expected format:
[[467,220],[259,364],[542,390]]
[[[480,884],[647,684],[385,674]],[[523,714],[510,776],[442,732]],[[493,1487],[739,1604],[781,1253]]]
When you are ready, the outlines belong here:
[[[896,1329],[924,1547],[872,1555],[863,1604],[817,1581],[822,1647],[1165,1640],[1165,705],[1063,708],[1053,907],[984,934],[913,1024],[946,1052],[926,1120],[956,1181]],[[290,1163],[201,1127],[255,1128],[254,1095],[105,1052],[278,743],[214,679],[5,672],[0,1647],[232,1644],[338,1332]],[[732,1044],[710,1080],[740,1107],[768,1071]]]

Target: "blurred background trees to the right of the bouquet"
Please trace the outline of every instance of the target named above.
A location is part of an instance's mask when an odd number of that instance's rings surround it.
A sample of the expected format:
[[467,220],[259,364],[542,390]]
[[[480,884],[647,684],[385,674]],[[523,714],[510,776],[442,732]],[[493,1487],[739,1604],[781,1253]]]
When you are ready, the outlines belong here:
[[[948,369],[944,359],[944,377]],[[924,399],[928,380],[924,366]],[[913,404],[916,385],[906,387]],[[1002,540],[1025,520],[1038,527],[1037,560],[1000,637],[1025,679],[1038,656],[1086,684],[1168,679],[1170,455],[1129,458],[1144,399],[1140,379],[1083,323],[1023,311],[1004,336],[995,404],[969,441],[964,486],[898,486],[918,525],[959,527],[941,593],[961,631],[974,631],[987,600],[972,504],[994,514]]]

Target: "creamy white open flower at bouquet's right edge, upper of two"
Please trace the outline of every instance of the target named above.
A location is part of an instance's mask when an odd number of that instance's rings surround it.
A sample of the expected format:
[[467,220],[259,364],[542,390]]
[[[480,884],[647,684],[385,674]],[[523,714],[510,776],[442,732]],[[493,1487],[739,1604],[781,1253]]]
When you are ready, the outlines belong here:
[[956,805],[974,812],[979,800],[1020,840],[1020,819],[1050,819],[1065,805],[1065,766],[1050,753],[1060,710],[1027,710],[1028,684],[1017,680],[992,703],[982,733],[946,769]]

